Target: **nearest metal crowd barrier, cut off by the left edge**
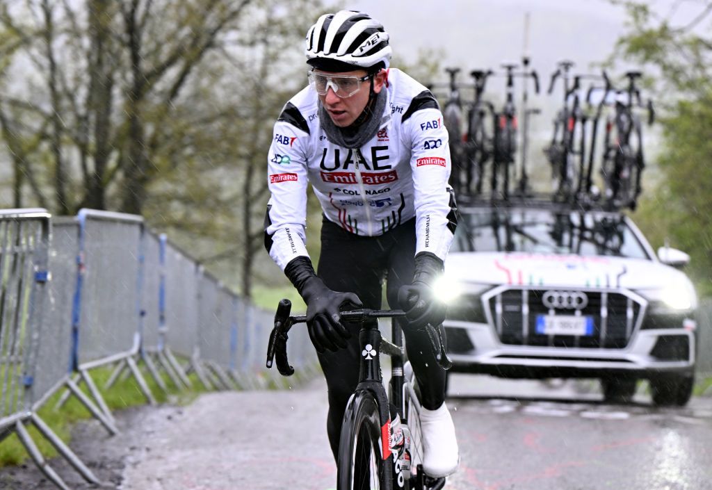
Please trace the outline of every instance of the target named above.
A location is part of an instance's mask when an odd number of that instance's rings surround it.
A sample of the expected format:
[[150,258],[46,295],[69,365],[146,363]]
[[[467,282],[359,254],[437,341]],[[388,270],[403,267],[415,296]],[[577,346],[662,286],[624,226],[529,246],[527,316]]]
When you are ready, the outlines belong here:
[[[57,350],[68,345],[68,335],[64,335],[66,342],[53,345],[53,340],[59,337],[59,325],[41,321],[48,307],[56,307],[53,293],[47,294],[51,279],[48,269],[50,226],[50,214],[45,209],[0,211],[0,440],[17,434],[47,478],[68,490],[26,427],[33,424],[85,479],[99,483],[36,412],[45,400],[45,392],[51,391],[54,378],[61,378],[51,371],[53,366],[45,356],[61,356],[66,365],[68,354],[68,350]],[[61,364],[58,361],[58,365]]]

